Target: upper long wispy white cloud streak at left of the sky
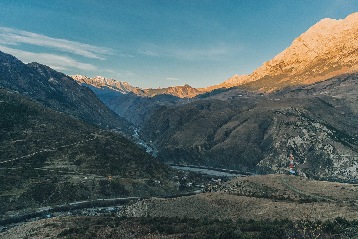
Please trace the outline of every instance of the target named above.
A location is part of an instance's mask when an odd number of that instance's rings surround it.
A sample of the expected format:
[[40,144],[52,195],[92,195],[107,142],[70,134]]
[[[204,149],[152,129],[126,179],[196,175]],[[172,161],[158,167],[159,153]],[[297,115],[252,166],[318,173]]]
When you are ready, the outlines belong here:
[[[0,27],[0,43],[7,45],[18,45],[19,43],[33,44],[36,46],[53,48],[58,51],[71,52],[80,56],[88,58],[97,58],[100,60],[105,60],[105,58],[103,58],[103,55],[117,54],[115,49],[108,47],[97,47],[81,42],[57,39],[47,37],[42,34],[26,32],[23,30],[6,27]],[[122,55],[132,57],[127,54],[121,54],[121,56]]]

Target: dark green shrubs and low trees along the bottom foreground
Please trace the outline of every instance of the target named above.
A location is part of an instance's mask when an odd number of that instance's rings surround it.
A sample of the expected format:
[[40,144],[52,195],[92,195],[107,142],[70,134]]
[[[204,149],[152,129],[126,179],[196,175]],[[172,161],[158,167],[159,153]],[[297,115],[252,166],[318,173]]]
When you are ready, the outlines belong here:
[[[358,236],[357,220],[335,218],[326,221],[289,219],[194,219],[178,217],[77,217],[58,238],[192,238],[192,239],[278,239],[278,238],[353,238]],[[94,230],[97,229],[97,230]],[[100,233],[96,232],[101,231]],[[125,236],[125,237],[123,237]],[[355,237],[354,237],[355,238]]]

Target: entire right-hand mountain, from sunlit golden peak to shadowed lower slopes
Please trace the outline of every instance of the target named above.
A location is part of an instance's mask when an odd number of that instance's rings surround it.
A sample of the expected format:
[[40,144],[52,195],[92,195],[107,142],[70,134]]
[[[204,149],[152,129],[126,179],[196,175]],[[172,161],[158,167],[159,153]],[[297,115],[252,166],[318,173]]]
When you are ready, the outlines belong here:
[[358,13],[323,19],[251,75],[155,110],[140,137],[158,159],[357,182]]

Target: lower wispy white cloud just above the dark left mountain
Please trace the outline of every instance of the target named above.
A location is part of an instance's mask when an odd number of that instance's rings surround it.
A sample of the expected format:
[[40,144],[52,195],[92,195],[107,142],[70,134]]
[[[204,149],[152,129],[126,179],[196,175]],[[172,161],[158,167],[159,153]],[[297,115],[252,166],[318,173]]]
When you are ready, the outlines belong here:
[[68,56],[59,56],[56,54],[50,53],[35,53],[35,52],[26,52],[19,49],[13,49],[0,45],[0,51],[9,53],[17,57],[20,61],[24,63],[29,62],[38,62],[45,64],[55,70],[69,70],[69,68],[78,68],[85,71],[97,71],[98,68],[92,64],[82,63]]

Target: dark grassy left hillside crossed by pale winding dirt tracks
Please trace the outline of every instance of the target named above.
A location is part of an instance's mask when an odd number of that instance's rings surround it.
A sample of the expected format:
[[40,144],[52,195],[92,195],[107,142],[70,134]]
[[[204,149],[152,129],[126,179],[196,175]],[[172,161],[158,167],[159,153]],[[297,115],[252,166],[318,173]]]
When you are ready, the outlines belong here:
[[[0,117],[1,214],[53,202],[176,191],[165,181],[172,168],[116,134],[3,88]],[[145,180],[151,179],[165,186],[149,186]]]

